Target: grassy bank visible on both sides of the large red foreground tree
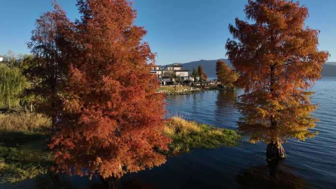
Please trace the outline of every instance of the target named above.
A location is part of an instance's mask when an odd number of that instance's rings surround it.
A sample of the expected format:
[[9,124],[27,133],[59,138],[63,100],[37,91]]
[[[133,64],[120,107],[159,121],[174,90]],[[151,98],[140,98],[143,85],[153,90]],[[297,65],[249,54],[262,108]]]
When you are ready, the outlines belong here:
[[[53,154],[47,147],[51,121],[36,113],[0,114],[0,183],[17,183],[48,173]],[[166,120],[164,130],[172,142],[168,156],[192,149],[235,146],[240,136],[235,131],[219,129],[180,117]]]

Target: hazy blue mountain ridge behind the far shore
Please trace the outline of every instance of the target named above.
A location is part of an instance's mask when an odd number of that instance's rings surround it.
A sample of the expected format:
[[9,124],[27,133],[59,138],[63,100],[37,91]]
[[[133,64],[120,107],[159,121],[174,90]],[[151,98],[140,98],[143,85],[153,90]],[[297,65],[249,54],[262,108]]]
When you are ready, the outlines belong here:
[[[232,64],[228,59],[220,60],[224,61],[229,67],[232,68]],[[189,74],[193,72],[193,68],[197,68],[199,65],[201,65],[208,77],[216,77],[216,62],[217,60],[198,60],[183,63],[181,65],[183,66],[184,70],[189,70]],[[336,62],[326,62],[326,64],[323,66],[322,76],[336,77]]]

